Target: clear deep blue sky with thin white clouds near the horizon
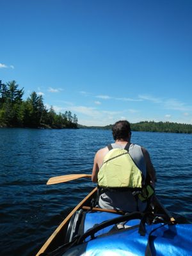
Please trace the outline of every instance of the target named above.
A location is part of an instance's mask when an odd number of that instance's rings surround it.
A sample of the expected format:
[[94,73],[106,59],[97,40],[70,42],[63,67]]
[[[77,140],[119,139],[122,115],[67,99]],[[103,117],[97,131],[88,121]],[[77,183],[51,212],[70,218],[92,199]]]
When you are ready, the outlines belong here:
[[1,0],[0,80],[79,124],[192,124],[191,0]]

